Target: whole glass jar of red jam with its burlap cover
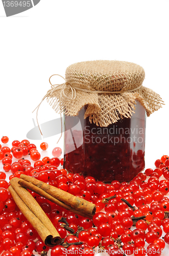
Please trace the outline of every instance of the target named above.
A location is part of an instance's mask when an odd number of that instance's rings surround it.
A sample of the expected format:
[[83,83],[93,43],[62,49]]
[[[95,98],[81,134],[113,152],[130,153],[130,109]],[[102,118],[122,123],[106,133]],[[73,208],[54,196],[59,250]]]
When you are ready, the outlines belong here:
[[101,181],[130,181],[145,167],[146,114],[162,100],[143,86],[144,69],[126,61],[75,63],[48,92],[64,113],[64,168]]

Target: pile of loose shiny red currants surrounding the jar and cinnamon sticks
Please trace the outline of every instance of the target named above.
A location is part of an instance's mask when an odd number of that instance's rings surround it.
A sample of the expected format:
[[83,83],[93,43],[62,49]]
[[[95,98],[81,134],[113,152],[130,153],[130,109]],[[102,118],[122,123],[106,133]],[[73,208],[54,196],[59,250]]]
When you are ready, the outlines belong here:
[[[2,138],[3,143],[8,140],[8,137]],[[47,148],[46,144],[41,144],[42,150]],[[99,249],[110,256],[122,256],[123,253],[160,256],[165,243],[169,244],[169,199],[166,197],[169,189],[168,156],[156,160],[154,170],[146,169],[145,173],[139,173],[129,183],[114,180],[104,184],[91,176],[85,178],[80,174],[67,173],[62,168],[63,159],[58,158],[62,154],[61,148],[54,148],[53,158],[44,157],[42,160],[36,145],[28,140],[13,141],[11,149],[0,144],[0,150],[5,172],[12,172],[9,179],[19,178],[23,173],[93,202],[97,207],[91,220],[30,191],[62,238],[60,245],[49,248],[16,206],[8,190],[6,174],[0,172],[2,256],[31,256],[34,251],[43,254],[42,251],[47,253],[49,250],[51,256],[84,256],[94,255]],[[29,159],[23,158],[29,155],[33,165]],[[17,161],[12,163],[13,157]],[[162,229],[166,233],[164,238]]]

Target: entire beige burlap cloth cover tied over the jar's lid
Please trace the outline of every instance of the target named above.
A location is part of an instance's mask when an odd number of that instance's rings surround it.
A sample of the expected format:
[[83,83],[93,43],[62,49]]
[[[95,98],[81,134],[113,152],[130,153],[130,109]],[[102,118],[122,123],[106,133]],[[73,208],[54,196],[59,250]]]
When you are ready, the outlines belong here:
[[136,100],[144,106],[147,116],[161,108],[161,97],[142,86],[144,78],[144,69],[131,62],[78,62],[66,69],[65,82],[51,86],[44,98],[56,112],[69,116],[77,116],[86,105],[84,118],[106,127],[130,118]]

